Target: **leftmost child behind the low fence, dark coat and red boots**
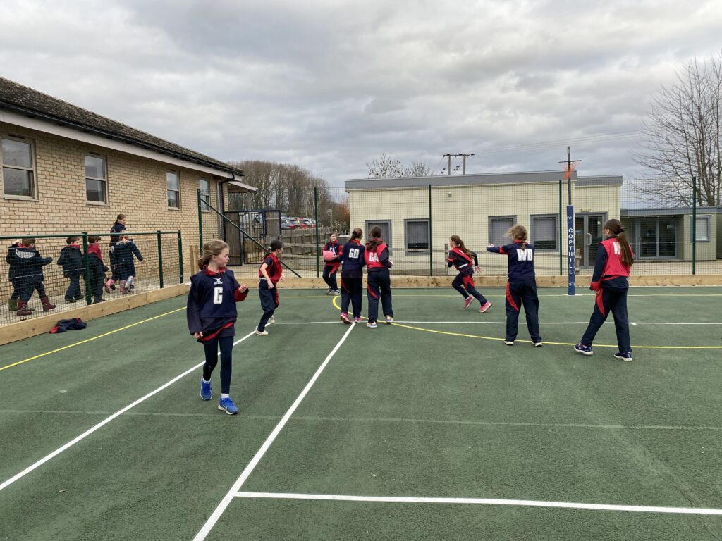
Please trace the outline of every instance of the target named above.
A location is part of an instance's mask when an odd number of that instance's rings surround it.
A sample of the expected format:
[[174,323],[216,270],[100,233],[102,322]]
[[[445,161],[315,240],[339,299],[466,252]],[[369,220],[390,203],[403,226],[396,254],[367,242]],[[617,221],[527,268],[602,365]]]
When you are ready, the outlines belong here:
[[12,260],[10,265],[17,272],[17,278],[13,281],[16,289],[19,289],[17,302],[17,315],[28,316],[32,312],[27,309],[27,302],[30,301],[32,292],[37,290],[40,296],[40,302],[43,304],[43,312],[48,312],[55,308],[55,304],[51,304],[50,299],[45,294],[45,285],[43,281],[43,267],[53,262],[53,258],[43,258],[40,252],[35,248],[35,238],[25,237],[20,241],[20,245],[15,248],[12,255],[8,254]]

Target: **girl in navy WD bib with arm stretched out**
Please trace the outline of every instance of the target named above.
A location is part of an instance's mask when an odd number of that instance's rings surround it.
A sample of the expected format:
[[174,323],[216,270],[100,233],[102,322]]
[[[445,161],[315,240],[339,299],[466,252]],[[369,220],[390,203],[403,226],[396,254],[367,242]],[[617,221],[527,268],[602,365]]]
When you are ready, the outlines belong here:
[[536,275],[534,273],[534,245],[526,242],[526,227],[513,226],[507,232],[513,243],[505,246],[487,246],[487,251],[505,254],[509,270],[506,283],[506,336],[504,343],[513,346],[518,332],[519,310],[524,305],[526,328],[531,343],[541,347],[539,335],[539,296],[536,295]]

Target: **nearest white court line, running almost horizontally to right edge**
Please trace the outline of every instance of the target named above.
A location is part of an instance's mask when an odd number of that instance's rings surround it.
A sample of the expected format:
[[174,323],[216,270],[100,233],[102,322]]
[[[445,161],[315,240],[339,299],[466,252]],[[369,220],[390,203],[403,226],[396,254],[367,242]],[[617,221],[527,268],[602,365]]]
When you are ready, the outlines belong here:
[[274,492],[236,492],[236,498],[269,498],[290,500],[385,501],[389,503],[466,503],[474,505],[560,507],[563,509],[593,509],[595,511],[638,511],[641,513],[672,513],[692,515],[722,515],[722,509],[697,507],[621,506],[606,503],[573,503],[567,501],[501,500],[496,498],[406,498],[394,496],[342,496],[337,494],[293,494]]

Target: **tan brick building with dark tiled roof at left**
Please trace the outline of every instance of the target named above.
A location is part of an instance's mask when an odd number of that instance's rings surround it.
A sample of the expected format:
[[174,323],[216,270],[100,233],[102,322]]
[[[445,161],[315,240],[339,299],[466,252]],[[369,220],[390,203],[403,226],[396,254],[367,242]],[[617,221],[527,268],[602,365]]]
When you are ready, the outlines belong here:
[[[243,171],[0,78],[0,236],[180,229],[198,243],[197,190],[222,208]],[[204,239],[219,219],[204,211]],[[186,265],[184,265],[186,266]]]

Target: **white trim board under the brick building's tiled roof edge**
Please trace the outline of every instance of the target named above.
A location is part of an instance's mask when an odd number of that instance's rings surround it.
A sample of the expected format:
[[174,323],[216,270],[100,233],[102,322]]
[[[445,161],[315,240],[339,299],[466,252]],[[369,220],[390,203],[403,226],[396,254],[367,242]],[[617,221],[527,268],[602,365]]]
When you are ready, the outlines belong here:
[[[65,137],[73,139],[74,141],[81,141],[83,143],[92,144],[95,146],[101,146],[105,149],[112,149],[126,154],[133,154],[142,158],[152,159],[155,162],[162,162],[170,164],[175,167],[184,167],[193,171],[199,171],[206,173],[207,175],[215,175],[223,178],[233,178],[233,174],[228,171],[222,171],[209,167],[207,165],[196,164],[195,162],[186,162],[183,159],[178,159],[168,154],[160,154],[160,152],[143,149],[140,146],[136,146],[129,143],[123,143],[123,141],[116,141],[116,139],[109,139],[103,136],[97,136],[93,133],[84,133],[78,131],[77,128],[68,128],[67,126],[58,126],[57,124],[48,122],[48,120],[42,120],[40,118],[28,118],[27,115],[20,115],[18,113],[12,113],[8,110],[0,109],[0,122],[6,122],[14,126],[22,126],[23,128],[29,128],[31,130],[42,131],[43,133],[51,133],[51,135]],[[248,186],[249,189],[257,191],[256,188]]]

